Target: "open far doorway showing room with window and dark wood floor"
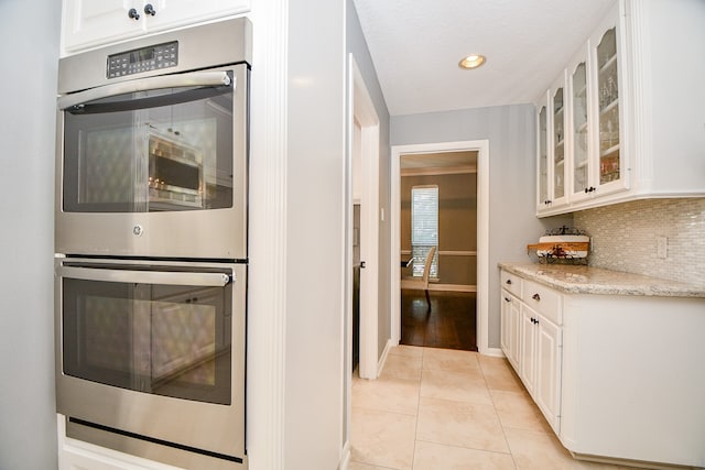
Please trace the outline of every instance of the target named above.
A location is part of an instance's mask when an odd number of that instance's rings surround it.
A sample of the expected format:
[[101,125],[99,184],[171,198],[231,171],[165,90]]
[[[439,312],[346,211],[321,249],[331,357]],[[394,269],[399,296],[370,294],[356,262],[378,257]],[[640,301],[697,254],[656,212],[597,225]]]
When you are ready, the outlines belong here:
[[435,247],[426,293],[401,291],[402,345],[477,351],[477,150],[400,157],[402,280],[421,278]]

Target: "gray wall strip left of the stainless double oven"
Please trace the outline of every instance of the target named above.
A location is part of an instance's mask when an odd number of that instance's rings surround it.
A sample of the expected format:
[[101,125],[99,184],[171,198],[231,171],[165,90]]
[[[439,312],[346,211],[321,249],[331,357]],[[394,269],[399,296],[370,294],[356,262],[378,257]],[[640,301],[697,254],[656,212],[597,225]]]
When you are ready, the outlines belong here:
[[61,2],[0,1],[0,469],[55,469],[53,200]]

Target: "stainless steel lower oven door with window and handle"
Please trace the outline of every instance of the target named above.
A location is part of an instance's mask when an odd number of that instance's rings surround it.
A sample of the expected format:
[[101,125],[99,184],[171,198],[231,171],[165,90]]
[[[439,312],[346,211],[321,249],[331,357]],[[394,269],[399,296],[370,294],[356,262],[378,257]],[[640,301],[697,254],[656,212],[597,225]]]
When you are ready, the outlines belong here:
[[57,412],[238,461],[246,265],[57,259]]

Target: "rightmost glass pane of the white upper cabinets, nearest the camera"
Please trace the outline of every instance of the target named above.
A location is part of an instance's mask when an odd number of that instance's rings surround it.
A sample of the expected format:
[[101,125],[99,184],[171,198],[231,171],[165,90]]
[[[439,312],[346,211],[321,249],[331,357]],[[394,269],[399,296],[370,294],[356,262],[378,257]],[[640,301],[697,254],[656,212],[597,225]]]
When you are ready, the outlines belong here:
[[617,36],[612,28],[597,46],[599,102],[599,184],[619,179],[619,83]]

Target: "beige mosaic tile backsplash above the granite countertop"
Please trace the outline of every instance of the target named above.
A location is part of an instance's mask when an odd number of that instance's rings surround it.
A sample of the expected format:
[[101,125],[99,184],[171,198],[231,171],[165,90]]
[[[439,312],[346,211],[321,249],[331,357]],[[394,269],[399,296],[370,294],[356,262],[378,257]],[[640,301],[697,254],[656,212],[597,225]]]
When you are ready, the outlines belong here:
[[[589,265],[705,285],[705,198],[637,200],[573,217],[593,237]],[[665,259],[658,237],[668,239]]]

